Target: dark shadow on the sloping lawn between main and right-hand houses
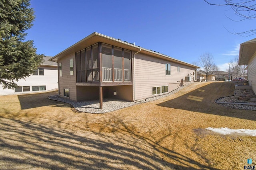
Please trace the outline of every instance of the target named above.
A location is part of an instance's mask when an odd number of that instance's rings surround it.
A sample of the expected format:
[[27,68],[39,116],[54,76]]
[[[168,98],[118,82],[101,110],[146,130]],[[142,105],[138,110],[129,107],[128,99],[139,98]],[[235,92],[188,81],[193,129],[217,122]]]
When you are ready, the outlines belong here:
[[252,110],[230,109],[215,103],[215,100],[234,95],[234,84],[229,82],[211,83],[184,94],[178,98],[157,104],[162,107],[188,111],[256,120]]

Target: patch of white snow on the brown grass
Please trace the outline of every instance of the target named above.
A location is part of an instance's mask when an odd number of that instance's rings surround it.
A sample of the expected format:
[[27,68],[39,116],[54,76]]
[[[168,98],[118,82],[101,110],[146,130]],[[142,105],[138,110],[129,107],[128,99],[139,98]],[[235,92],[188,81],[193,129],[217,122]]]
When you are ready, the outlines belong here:
[[250,136],[256,136],[256,130],[251,129],[229,129],[227,127],[221,127],[221,128],[212,128],[208,127],[207,130],[214,131],[216,133],[220,133],[222,135],[229,135],[232,133],[240,133],[241,135],[250,135]]

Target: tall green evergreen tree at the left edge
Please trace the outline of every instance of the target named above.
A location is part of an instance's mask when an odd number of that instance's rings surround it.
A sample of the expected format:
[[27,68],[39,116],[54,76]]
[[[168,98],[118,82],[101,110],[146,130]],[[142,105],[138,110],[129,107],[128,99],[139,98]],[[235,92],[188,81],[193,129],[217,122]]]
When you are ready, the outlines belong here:
[[25,41],[35,19],[30,0],[0,0],[0,84],[14,88],[14,81],[30,76],[43,61],[33,41]]

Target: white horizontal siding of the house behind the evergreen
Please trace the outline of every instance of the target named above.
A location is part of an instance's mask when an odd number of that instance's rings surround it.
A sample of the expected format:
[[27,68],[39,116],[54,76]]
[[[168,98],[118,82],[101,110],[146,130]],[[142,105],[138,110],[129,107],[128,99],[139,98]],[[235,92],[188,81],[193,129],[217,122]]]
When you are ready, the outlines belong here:
[[[25,79],[20,79],[18,86],[30,86],[30,92],[42,92],[32,91],[32,86],[46,86],[46,91],[58,88],[58,68],[54,66],[40,66],[38,68],[44,69],[44,75],[31,75]],[[30,92],[15,92],[14,89],[3,89],[0,85],[0,95],[7,94],[24,94]]]

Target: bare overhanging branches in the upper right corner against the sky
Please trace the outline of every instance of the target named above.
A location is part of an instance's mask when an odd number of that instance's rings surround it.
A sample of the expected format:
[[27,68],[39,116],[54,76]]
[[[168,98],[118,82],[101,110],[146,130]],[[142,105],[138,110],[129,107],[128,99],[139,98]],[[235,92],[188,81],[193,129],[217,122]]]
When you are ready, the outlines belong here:
[[[232,10],[234,10],[235,14],[240,18],[239,20],[234,20],[228,17],[232,21],[243,21],[243,20],[250,20],[256,19],[256,2],[255,0],[223,0],[223,4],[216,4],[215,2],[211,3],[211,0],[204,0],[206,3],[210,5],[216,6],[230,6]],[[228,29],[227,29],[228,30]],[[230,32],[230,31],[228,31]],[[232,33],[232,32],[230,32]],[[239,33],[232,33],[238,34],[243,37],[248,37],[250,35],[256,34],[256,29],[251,29]]]

